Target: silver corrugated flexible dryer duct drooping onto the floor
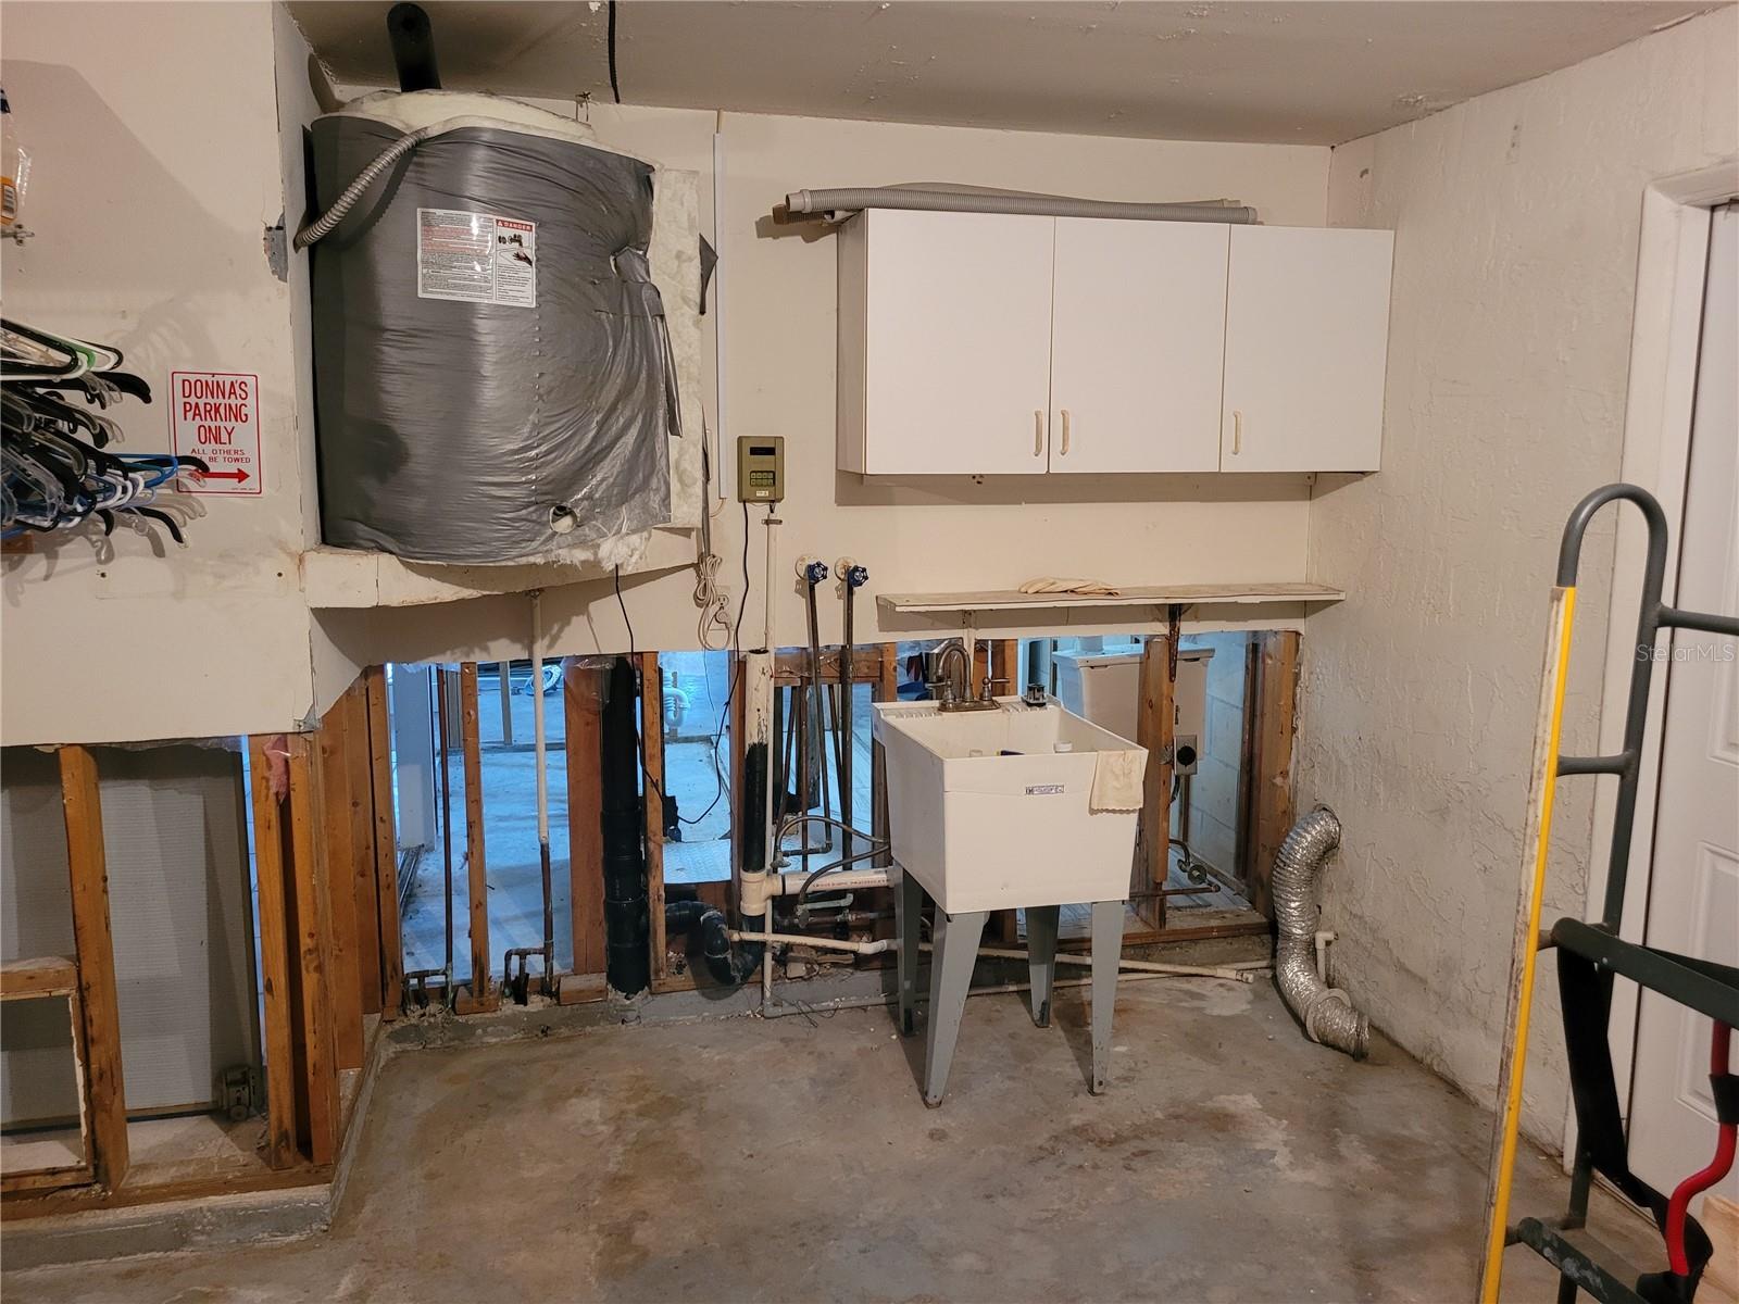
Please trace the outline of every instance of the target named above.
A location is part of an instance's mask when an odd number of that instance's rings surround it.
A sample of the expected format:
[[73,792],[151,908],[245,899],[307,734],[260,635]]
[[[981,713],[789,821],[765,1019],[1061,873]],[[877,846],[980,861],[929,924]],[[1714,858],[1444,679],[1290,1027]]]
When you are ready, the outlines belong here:
[[1292,1012],[1304,1022],[1311,1041],[1363,1059],[1370,1050],[1370,1021],[1353,1008],[1353,1000],[1330,988],[1316,972],[1316,875],[1341,845],[1341,821],[1329,807],[1304,815],[1275,857],[1275,982]]

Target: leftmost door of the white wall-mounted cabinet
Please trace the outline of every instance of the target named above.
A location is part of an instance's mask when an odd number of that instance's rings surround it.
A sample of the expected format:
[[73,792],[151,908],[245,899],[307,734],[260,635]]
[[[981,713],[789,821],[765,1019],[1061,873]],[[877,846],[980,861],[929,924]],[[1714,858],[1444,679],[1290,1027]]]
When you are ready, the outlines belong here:
[[864,221],[864,473],[1042,473],[1056,219],[871,209]]

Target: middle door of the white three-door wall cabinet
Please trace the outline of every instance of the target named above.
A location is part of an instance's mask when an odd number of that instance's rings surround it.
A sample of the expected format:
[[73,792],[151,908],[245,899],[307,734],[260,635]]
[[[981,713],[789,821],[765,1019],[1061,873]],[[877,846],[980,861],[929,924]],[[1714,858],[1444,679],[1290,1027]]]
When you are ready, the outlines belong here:
[[1057,219],[1052,471],[1217,471],[1217,223]]

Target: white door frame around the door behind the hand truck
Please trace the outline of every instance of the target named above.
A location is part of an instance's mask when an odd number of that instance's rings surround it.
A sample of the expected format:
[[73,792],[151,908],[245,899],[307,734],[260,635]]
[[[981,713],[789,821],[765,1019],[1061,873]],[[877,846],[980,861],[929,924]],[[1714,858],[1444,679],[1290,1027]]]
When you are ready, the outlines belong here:
[[[1636,247],[1636,297],[1631,315],[1629,388],[1624,396],[1624,442],[1619,478],[1640,485],[1661,501],[1668,527],[1666,584],[1661,600],[1671,605],[1678,589],[1678,541],[1685,515],[1685,476],[1690,464],[1690,419],[1696,403],[1702,296],[1709,245],[1709,210],[1739,198],[1739,156],[1711,167],[1652,181],[1642,195],[1642,230]],[[1612,596],[1607,621],[1605,669],[1600,690],[1600,755],[1624,749],[1629,675],[1635,666],[1635,624],[1642,600],[1647,527],[1635,511],[1617,513],[1617,548],[1612,560]],[[1661,777],[1661,730],[1666,715],[1666,676],[1657,675],[1649,694],[1649,723],[1642,744],[1636,826],[1629,873],[1624,882],[1622,937],[1643,941],[1649,878],[1654,868],[1654,814]],[[1582,918],[1600,918],[1612,845],[1614,784],[1598,784],[1593,805],[1593,852]],[[1629,1120],[1631,1068],[1636,1054],[1638,991],[1621,982],[1612,995],[1612,1068],[1619,1109]],[[1563,1170],[1576,1156],[1576,1108],[1565,1102]]]

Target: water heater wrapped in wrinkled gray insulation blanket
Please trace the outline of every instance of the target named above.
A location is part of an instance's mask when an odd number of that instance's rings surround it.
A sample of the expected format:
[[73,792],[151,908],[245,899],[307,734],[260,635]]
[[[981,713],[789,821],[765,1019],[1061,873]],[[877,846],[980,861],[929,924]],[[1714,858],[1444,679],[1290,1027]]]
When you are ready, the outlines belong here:
[[[400,136],[316,120],[315,207]],[[376,181],[313,247],[325,541],[492,563],[666,523],[650,236],[652,167],[574,141],[463,127]]]

